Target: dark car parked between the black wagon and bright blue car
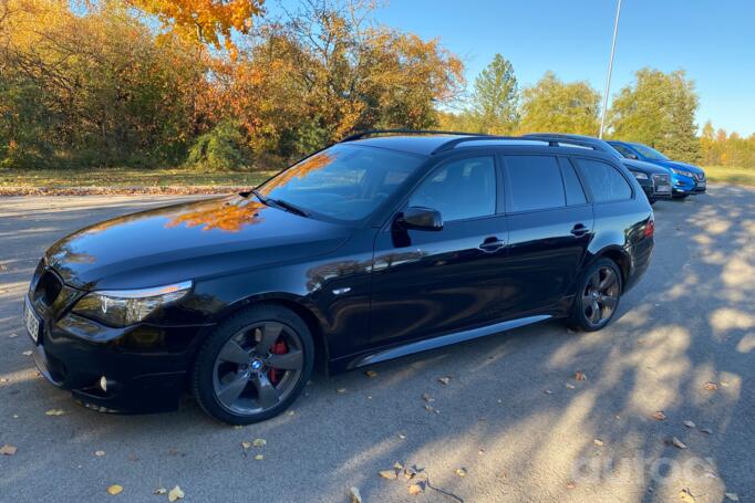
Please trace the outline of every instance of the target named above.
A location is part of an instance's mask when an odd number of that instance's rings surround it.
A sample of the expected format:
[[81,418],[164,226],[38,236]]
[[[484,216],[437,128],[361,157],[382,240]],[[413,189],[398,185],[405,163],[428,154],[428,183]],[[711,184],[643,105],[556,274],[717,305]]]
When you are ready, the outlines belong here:
[[524,138],[550,138],[563,145],[587,147],[609,154],[619,159],[634,178],[637,178],[638,184],[642,187],[642,191],[648,196],[648,200],[651,205],[655,203],[659,199],[671,199],[671,176],[666,169],[659,168],[651,163],[625,158],[625,156],[611,146],[611,144],[600,138],[561,133],[534,133],[525,135]]

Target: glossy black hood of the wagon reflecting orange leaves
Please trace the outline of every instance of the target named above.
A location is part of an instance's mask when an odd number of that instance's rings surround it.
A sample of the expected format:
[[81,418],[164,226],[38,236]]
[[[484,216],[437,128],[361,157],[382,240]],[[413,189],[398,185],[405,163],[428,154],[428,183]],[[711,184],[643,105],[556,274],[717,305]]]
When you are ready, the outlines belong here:
[[328,253],[349,229],[230,196],[95,223],[45,259],[71,286],[139,289]]

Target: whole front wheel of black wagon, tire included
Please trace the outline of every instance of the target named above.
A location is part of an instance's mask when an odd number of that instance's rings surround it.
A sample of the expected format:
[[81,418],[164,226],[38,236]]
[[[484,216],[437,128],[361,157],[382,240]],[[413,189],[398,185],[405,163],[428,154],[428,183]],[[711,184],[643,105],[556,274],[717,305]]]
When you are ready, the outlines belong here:
[[313,365],[307,324],[283,306],[259,304],[231,315],[207,337],[192,368],[192,394],[209,416],[251,425],[286,410]]

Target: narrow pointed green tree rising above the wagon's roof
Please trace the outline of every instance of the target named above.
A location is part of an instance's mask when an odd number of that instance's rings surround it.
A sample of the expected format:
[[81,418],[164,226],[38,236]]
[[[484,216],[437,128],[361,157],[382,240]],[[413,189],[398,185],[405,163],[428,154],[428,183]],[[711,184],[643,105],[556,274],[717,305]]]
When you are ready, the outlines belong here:
[[472,115],[476,130],[511,134],[519,122],[519,90],[514,66],[500,54],[475,78]]

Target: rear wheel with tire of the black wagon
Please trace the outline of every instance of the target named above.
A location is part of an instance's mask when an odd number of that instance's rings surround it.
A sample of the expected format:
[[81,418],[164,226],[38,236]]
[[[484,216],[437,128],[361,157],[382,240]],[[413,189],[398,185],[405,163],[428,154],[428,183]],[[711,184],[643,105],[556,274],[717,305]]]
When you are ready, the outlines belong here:
[[[610,280],[611,274],[613,282]],[[606,282],[604,286],[603,282]],[[579,280],[568,319],[569,326],[583,332],[603,328],[613,319],[619,308],[622,289],[621,271],[617,263],[611,259],[597,260]],[[609,301],[610,298],[612,301]],[[594,306],[598,306],[597,317],[593,314],[596,313]]]

